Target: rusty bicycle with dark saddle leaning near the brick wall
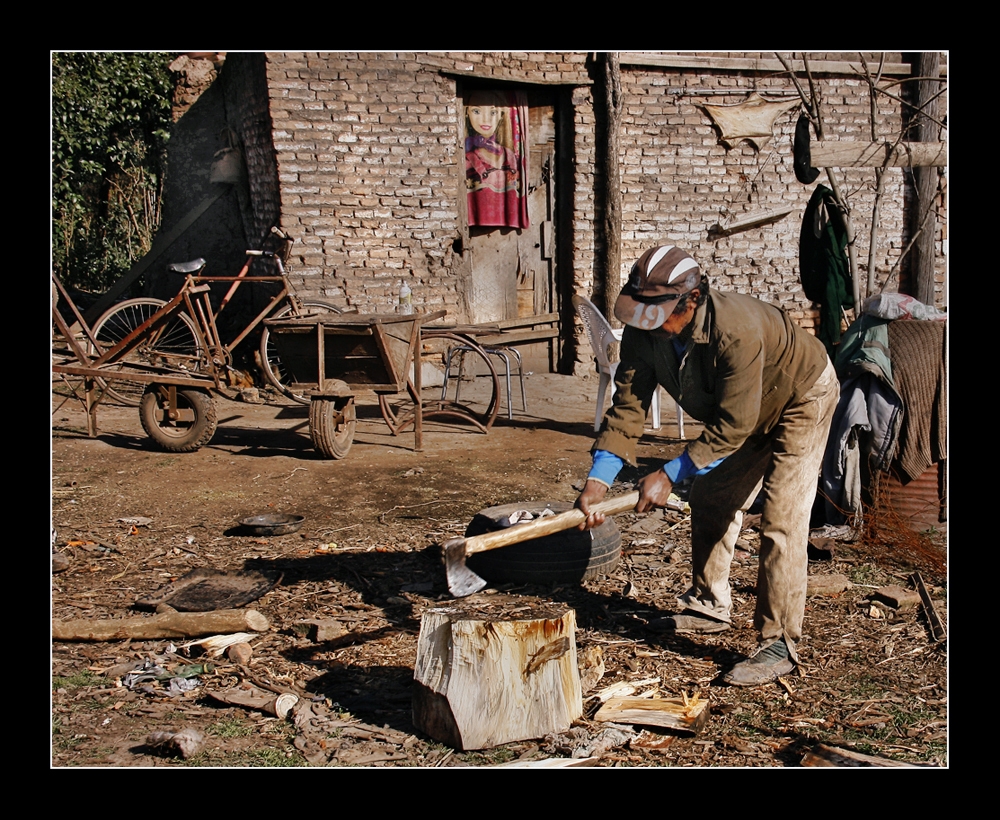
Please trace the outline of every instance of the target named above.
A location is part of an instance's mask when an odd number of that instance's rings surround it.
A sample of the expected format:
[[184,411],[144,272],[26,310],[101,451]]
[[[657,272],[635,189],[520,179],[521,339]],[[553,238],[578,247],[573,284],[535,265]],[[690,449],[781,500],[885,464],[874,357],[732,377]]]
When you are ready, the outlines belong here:
[[[211,355],[216,366],[223,366],[227,373],[233,374],[232,354],[235,348],[243,342],[264,319],[281,319],[314,315],[317,313],[341,313],[341,309],[322,299],[302,298],[298,296],[285,272],[284,259],[291,247],[292,239],[281,229],[274,227],[271,232],[278,236],[285,247],[281,252],[248,250],[246,263],[236,276],[204,276],[202,271],[207,262],[195,259],[191,262],[176,263],[168,266],[172,273],[185,277],[181,292],[194,293],[192,288],[205,286],[213,282],[229,282],[230,287],[222,298],[218,308],[213,309],[208,293],[203,292],[203,298],[191,301],[190,307],[195,312],[191,316],[183,310],[176,315],[160,321],[157,326],[144,333],[142,341],[134,347],[127,357],[117,361],[117,367],[125,370],[131,365],[145,364],[152,366],[179,366],[183,369],[197,371],[204,369],[204,358]],[[250,266],[256,258],[272,260],[278,272],[277,276],[248,276]],[[232,300],[234,294],[244,282],[265,284],[281,283],[279,291],[271,298],[267,306],[229,342],[223,342],[217,329],[219,315]],[[162,299],[139,297],[127,299],[112,306],[94,323],[93,334],[100,348],[111,349],[128,339],[135,331],[149,322],[157,312],[168,303]],[[90,350],[100,354],[101,350]],[[258,346],[258,365],[264,378],[280,393],[299,404],[309,404],[309,396],[295,391],[294,374],[287,372],[277,354],[271,335],[266,325],[261,331]],[[104,385],[105,394],[127,406],[138,407],[142,401],[146,383],[133,382],[118,378],[109,380]]]

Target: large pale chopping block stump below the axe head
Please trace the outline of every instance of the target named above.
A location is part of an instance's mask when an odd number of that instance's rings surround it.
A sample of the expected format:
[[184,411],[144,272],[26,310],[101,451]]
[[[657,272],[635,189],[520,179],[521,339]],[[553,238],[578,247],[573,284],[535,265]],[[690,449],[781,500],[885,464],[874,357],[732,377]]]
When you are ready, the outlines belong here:
[[518,604],[530,611],[463,601],[424,613],[414,726],[455,749],[488,749],[565,732],[583,714],[576,613]]

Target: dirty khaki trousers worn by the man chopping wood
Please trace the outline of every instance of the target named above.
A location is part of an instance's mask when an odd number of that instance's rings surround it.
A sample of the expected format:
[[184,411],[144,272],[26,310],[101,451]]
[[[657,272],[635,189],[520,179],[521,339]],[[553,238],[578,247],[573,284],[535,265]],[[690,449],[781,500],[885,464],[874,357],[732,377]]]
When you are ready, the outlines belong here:
[[[691,588],[682,608],[727,623],[729,569],[743,513],[763,488],[754,627],[762,645],[784,638],[793,659],[802,638],[809,518],[840,384],[828,363],[816,383],[766,435],[751,436],[691,489]],[[797,659],[796,659],[797,660]]]

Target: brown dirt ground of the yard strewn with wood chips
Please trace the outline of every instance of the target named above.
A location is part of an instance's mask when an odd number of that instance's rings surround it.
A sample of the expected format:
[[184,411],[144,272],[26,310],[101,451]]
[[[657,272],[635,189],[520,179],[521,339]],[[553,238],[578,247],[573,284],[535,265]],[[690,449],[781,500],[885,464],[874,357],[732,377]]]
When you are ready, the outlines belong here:
[[[487,435],[429,420],[420,453],[412,434],[392,436],[377,406],[360,397],[354,445],[340,460],[314,451],[307,409],[284,399],[217,399],[214,439],[171,454],[153,446],[134,408],[102,406],[91,439],[81,408],[54,396],[53,619],[142,615],[137,598],[195,568],[280,571],[282,579],[248,605],[270,622],[248,641],[249,658],[197,657],[182,640],[53,641],[51,765],[479,767],[558,759],[796,767],[824,746],[948,765],[946,642],[933,639],[920,605],[894,607],[877,595],[889,585],[909,589],[917,569],[946,624],[945,533],[924,537],[913,554],[872,537],[817,554],[812,582],[840,575],[849,583],[810,595],[799,672],[738,689],[722,684],[720,673],[755,646],[756,532],[744,530],[733,567],[736,628],[695,639],[658,635],[648,623],[672,611],[690,580],[688,518],[671,510],[617,517],[623,555],[609,576],[507,584],[475,596],[498,617],[521,600],[576,611],[580,657],[601,661],[585,670],[584,715],[568,732],[461,751],[418,731],[411,703],[421,614],[453,601],[438,546],[484,507],[572,501],[587,473],[596,378],[533,373],[527,381],[528,412],[512,421],[501,415]],[[682,447],[669,404],[664,426],[643,439],[646,469]],[[698,430],[689,419],[687,436]],[[615,491],[640,474],[623,473]],[[305,523],[291,535],[241,534],[241,518],[265,512],[298,513]],[[315,619],[337,622],[342,634],[314,639],[305,622]],[[620,682],[640,694],[708,700],[709,720],[695,735],[595,721],[596,693]],[[209,694],[248,686],[299,700],[281,719]],[[176,738],[173,746],[154,742],[154,733],[190,730],[186,757]]]

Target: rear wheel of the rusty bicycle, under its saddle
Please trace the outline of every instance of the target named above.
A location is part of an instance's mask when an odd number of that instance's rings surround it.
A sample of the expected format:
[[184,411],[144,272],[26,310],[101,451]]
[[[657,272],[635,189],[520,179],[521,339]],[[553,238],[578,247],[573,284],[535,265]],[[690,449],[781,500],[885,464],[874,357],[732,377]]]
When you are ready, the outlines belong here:
[[[162,299],[142,297],[127,299],[110,308],[94,325],[94,336],[106,350],[114,347],[150,316],[166,304]],[[94,352],[94,351],[91,351]],[[108,365],[109,370],[122,370],[130,363],[185,367],[197,370],[201,358],[201,342],[195,330],[194,320],[186,313],[179,313],[143,341],[120,362]],[[106,395],[128,407],[138,407],[146,382],[128,379],[108,379]]]

